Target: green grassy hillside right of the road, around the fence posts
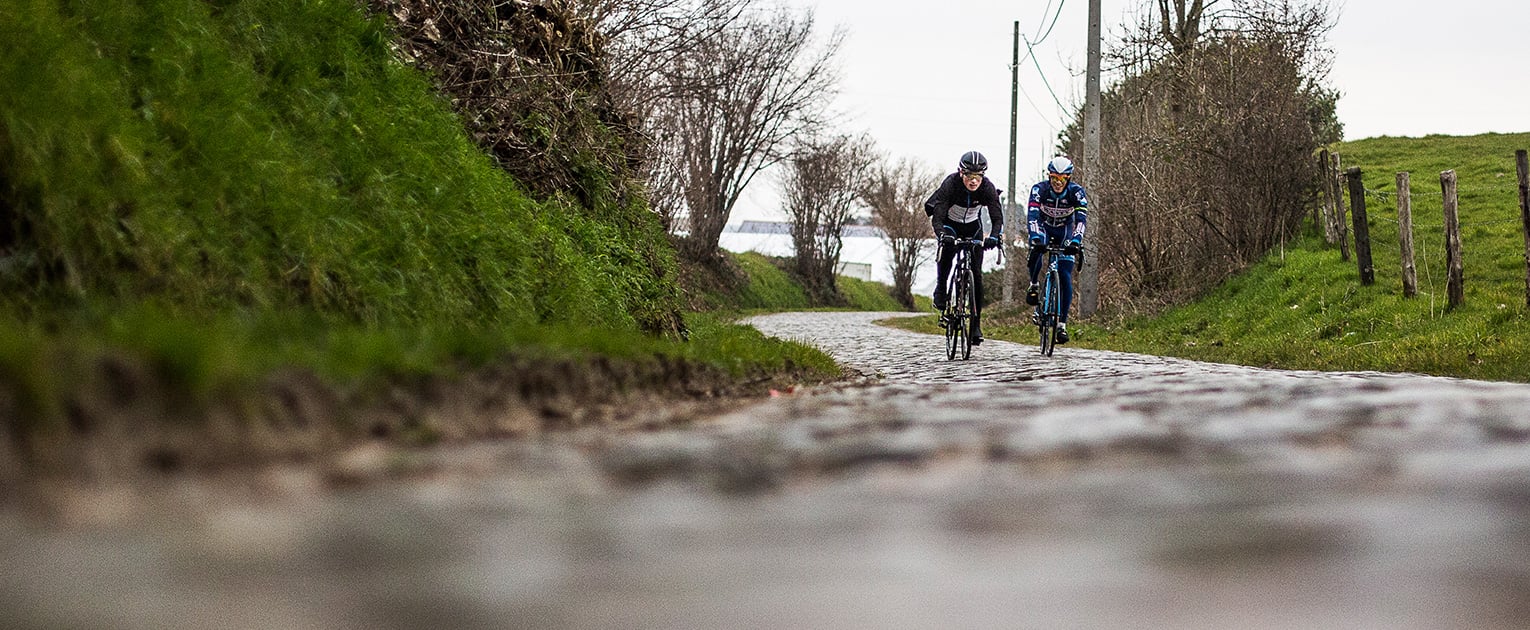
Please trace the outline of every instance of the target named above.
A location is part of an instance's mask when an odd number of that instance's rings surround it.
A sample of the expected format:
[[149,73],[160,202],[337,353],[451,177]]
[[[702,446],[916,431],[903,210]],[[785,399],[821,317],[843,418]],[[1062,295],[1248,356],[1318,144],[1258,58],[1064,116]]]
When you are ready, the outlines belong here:
[[[1282,369],[1530,382],[1516,148],[1530,148],[1530,133],[1343,142],[1334,150],[1346,167],[1362,168],[1368,190],[1374,284],[1360,284],[1356,260],[1342,260],[1339,248],[1313,229],[1193,303],[1121,323],[1076,323],[1071,346]],[[1458,309],[1446,307],[1444,170],[1457,171],[1460,190],[1466,303]],[[1401,295],[1398,171],[1411,173],[1415,298]],[[1036,332],[1022,317],[994,312],[984,332],[1034,344]],[[909,326],[929,330],[933,318]]]

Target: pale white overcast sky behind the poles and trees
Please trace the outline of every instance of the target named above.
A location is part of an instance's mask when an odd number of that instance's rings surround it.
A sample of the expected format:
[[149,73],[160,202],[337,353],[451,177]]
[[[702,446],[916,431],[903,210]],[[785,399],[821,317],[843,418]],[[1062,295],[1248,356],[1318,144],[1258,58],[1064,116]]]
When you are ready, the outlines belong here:
[[[1017,180],[1040,179],[1066,109],[1083,101],[1088,0],[1060,0],[1053,32],[1021,67]],[[1148,0],[1102,0],[1106,40]],[[845,132],[892,156],[953,170],[979,150],[1008,188],[1014,21],[1037,40],[1059,0],[791,0],[817,26],[846,31],[840,57]],[[1328,84],[1345,139],[1530,132],[1530,2],[1337,0]],[[1470,6],[1466,9],[1464,6]],[[1021,57],[1027,54],[1021,44]],[[1056,92],[1048,92],[1042,81]],[[1105,78],[1109,84],[1111,76]],[[782,219],[777,180],[757,177],[733,220]]]

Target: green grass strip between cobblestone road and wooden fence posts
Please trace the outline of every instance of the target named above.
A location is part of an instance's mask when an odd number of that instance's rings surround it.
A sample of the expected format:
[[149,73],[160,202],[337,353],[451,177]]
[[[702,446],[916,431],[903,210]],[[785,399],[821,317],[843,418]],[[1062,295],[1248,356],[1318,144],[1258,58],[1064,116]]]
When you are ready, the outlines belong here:
[[[1089,347],[1250,365],[1418,372],[1530,382],[1530,321],[1518,304],[1469,292],[1446,312],[1400,286],[1360,286],[1313,243],[1230,280],[1201,301],[1141,321],[1085,327]],[[1521,278],[1522,283],[1522,278]]]

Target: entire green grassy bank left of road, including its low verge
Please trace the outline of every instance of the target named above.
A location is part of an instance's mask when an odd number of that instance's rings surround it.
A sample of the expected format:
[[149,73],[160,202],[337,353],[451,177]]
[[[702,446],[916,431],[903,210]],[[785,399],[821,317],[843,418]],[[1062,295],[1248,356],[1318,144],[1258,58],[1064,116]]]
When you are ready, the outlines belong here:
[[838,375],[682,312],[632,182],[528,194],[390,38],[350,2],[0,8],[0,433],[124,356],[193,399],[509,355]]

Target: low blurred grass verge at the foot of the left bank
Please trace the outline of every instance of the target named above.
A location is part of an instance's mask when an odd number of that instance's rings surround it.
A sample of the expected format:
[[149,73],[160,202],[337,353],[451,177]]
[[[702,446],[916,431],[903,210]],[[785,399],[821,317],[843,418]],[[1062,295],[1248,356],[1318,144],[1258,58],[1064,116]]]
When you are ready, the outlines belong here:
[[[193,431],[208,419],[207,410],[231,405],[254,411],[248,427],[259,430],[263,422],[259,401],[268,396],[268,379],[294,367],[317,375],[340,399],[355,402],[395,399],[398,387],[407,395],[410,384],[433,378],[450,382],[480,369],[493,375],[500,365],[615,365],[617,373],[652,375],[610,382],[606,385],[610,391],[679,393],[698,384],[711,387],[705,385],[716,384],[711,375],[725,375],[737,395],[759,391],[762,382],[822,382],[840,376],[831,358],[805,344],[767,338],[753,327],[708,313],[690,313],[687,323],[690,341],[557,324],[375,327],[275,313],[231,315],[188,326],[150,309],[115,315],[110,326],[75,329],[67,338],[35,324],[3,321],[0,382],[8,395],[0,401],[8,425],[3,428],[21,443],[57,447],[67,443],[57,437],[76,431],[89,436],[89,424],[76,425],[81,410],[110,411],[112,404],[125,404],[162,408],[158,422]],[[350,411],[341,408],[324,419],[341,434],[353,436],[358,428]],[[98,413],[86,417],[90,424],[113,421]],[[219,431],[216,422],[208,428]],[[158,427],[133,430],[159,431]],[[413,433],[398,437],[402,443],[430,442],[418,440],[421,436]]]

